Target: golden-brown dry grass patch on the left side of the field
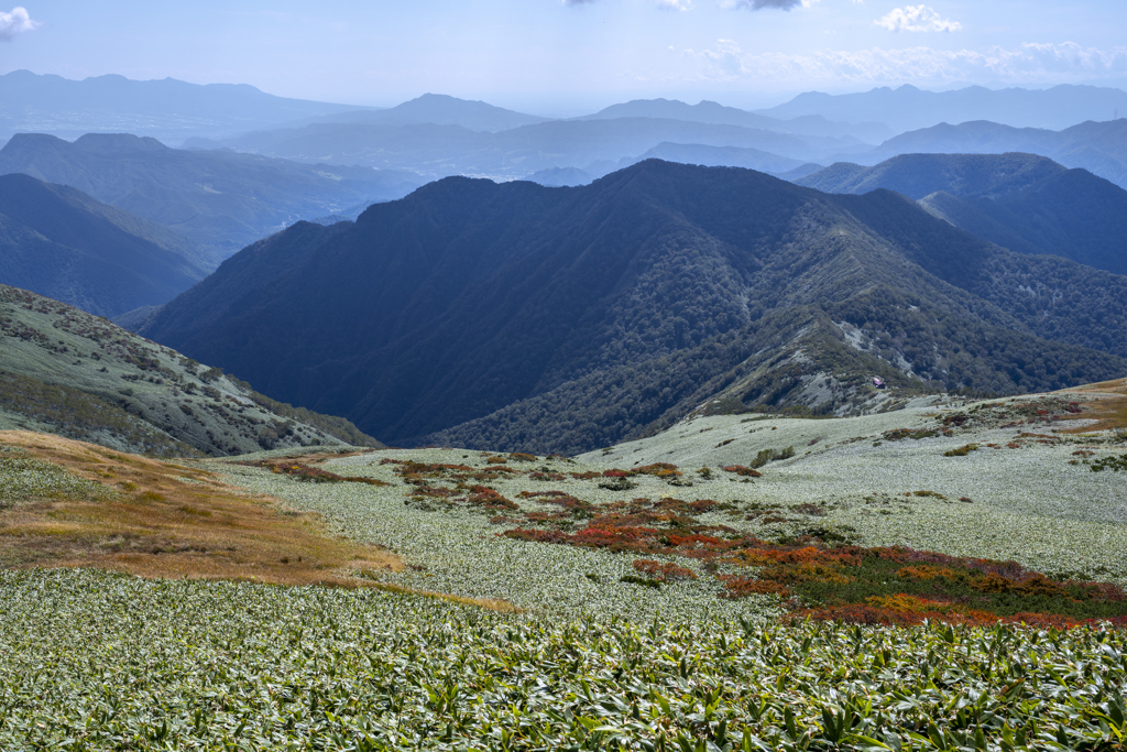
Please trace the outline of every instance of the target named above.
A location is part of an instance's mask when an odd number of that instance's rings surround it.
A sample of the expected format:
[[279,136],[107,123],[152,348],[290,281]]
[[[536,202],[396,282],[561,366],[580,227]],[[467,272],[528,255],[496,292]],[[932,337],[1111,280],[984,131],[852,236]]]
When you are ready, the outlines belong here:
[[402,568],[390,551],[330,537],[317,515],[248,496],[204,470],[26,431],[0,432],[0,444],[108,492],[0,510],[0,566],[340,586],[375,586],[353,572]]

